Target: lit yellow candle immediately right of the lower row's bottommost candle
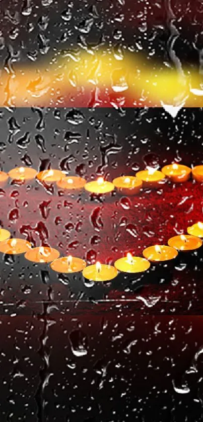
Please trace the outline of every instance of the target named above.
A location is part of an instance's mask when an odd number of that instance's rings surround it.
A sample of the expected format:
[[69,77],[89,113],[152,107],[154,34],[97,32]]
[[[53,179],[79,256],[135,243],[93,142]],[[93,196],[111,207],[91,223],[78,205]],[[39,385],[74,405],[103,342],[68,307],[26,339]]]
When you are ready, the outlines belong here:
[[119,271],[135,273],[147,271],[150,268],[150,262],[147,259],[127,253],[126,257],[115,261],[114,266]]

